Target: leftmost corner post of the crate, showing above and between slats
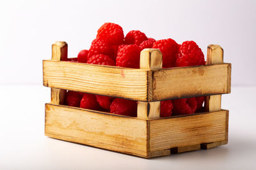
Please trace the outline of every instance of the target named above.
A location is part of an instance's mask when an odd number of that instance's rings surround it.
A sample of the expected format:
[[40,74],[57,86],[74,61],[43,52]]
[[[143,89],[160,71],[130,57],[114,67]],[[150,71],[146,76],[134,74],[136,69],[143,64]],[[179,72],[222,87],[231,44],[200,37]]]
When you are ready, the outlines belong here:
[[[52,60],[67,60],[68,59],[68,45],[65,41],[56,41],[52,44]],[[65,96],[67,90],[51,88],[51,103],[63,104],[65,103]]]

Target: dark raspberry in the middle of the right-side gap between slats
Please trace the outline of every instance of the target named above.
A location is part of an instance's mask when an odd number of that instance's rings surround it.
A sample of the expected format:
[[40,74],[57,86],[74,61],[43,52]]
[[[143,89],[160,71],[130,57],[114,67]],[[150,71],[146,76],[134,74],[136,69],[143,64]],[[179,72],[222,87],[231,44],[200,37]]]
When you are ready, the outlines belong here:
[[191,115],[195,113],[197,101],[195,97],[187,99],[172,100],[173,114],[175,115]]

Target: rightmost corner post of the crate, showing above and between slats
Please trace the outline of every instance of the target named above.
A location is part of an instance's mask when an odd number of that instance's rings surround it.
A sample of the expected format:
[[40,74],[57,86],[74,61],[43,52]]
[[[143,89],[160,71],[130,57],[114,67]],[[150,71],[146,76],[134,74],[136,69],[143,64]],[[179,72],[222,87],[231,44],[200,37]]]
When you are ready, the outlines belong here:
[[[209,45],[207,47],[207,65],[223,63],[223,49],[219,45]],[[229,73],[229,72],[228,72]],[[228,82],[228,78],[227,78]],[[229,89],[227,89],[229,90]],[[221,110],[221,95],[207,96],[205,99],[205,109],[207,111]]]

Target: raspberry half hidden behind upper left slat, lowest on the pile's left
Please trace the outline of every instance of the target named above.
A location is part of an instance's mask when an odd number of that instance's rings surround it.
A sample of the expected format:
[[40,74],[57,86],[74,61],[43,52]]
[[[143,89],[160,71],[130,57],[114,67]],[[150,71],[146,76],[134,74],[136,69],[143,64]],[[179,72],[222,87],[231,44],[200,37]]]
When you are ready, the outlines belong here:
[[92,57],[90,57],[90,59],[88,59],[87,63],[115,66],[115,61],[110,57],[108,57],[108,55],[104,55],[104,54],[93,55]]

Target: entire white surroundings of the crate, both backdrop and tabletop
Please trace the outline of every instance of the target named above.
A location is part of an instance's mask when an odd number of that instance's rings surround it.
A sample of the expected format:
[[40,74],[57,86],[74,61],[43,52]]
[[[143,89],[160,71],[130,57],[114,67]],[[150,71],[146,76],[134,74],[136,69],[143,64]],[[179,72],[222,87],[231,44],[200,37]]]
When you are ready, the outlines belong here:
[[[0,0],[0,169],[255,169],[256,1]],[[68,56],[88,49],[104,22],[156,39],[194,40],[224,49],[232,63],[228,145],[141,159],[44,136],[42,60],[67,41]]]

